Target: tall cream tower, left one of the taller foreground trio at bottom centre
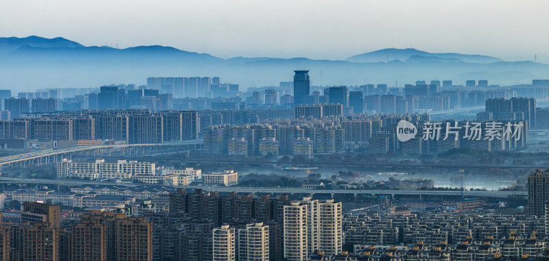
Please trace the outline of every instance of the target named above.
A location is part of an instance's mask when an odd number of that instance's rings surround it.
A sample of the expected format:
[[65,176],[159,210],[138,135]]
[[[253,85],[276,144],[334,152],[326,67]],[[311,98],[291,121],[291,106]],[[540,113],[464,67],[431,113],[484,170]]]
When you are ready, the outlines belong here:
[[307,205],[292,202],[284,206],[284,258],[307,260]]

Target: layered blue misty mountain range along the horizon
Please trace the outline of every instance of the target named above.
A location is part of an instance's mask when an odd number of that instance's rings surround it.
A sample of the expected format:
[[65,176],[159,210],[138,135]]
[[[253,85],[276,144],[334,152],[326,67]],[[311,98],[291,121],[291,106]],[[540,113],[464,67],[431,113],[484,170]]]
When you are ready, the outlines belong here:
[[549,65],[508,62],[482,55],[381,49],[345,60],[235,57],[186,52],[159,45],[117,49],[84,46],[65,38],[0,38],[0,89],[28,91],[51,87],[99,87],[112,83],[145,84],[148,77],[220,76],[246,87],[278,86],[293,70],[309,69],[314,85],[388,83],[416,80],[489,80],[526,84],[547,78]]

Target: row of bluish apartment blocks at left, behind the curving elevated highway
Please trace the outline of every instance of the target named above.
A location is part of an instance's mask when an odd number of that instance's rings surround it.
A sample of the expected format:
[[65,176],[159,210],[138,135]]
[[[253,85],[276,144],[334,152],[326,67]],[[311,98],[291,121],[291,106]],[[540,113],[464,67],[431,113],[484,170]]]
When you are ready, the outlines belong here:
[[0,142],[14,148],[34,141],[110,140],[156,144],[198,139],[196,111],[106,110],[26,115],[0,120]]

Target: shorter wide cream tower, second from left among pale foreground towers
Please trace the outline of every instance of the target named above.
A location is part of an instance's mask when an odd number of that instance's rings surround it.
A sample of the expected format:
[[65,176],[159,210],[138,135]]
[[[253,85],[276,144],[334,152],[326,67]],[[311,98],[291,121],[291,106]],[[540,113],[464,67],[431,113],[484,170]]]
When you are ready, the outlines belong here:
[[269,260],[269,227],[267,225],[253,223],[238,230],[238,260]]

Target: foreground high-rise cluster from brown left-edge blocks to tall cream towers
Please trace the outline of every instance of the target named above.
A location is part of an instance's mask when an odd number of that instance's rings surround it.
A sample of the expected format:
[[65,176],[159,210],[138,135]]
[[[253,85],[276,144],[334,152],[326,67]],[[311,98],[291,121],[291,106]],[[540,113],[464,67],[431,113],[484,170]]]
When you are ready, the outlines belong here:
[[67,216],[59,205],[25,202],[19,220],[0,220],[2,258],[301,261],[342,253],[342,206],[333,199],[178,190],[169,211],[104,210]]

